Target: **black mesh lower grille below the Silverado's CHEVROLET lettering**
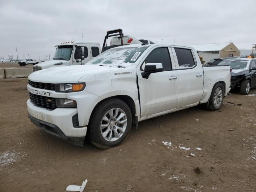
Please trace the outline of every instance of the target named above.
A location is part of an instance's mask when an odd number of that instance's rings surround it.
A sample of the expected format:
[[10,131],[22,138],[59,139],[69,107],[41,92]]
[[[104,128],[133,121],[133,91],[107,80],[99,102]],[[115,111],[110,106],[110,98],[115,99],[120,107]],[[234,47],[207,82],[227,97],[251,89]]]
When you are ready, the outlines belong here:
[[29,98],[32,103],[42,106],[48,109],[56,109],[56,99],[52,97],[40,96],[36,94],[29,93]]

